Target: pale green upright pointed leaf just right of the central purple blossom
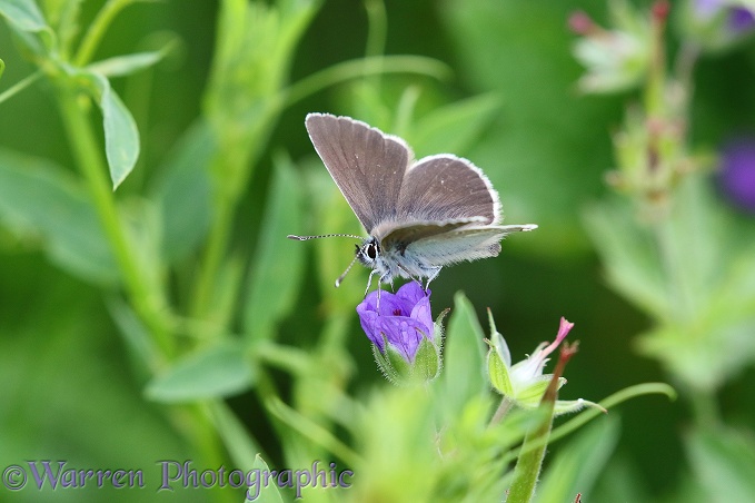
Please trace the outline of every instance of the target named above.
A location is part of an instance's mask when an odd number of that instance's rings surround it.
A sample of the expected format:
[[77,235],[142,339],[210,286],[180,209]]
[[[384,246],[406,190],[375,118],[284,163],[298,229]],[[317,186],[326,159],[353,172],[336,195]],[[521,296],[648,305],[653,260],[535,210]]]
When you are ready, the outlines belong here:
[[469,401],[489,389],[484,338],[473,305],[464,294],[457,293],[446,332],[444,373],[438,379],[443,382],[444,407],[451,414],[458,414]]

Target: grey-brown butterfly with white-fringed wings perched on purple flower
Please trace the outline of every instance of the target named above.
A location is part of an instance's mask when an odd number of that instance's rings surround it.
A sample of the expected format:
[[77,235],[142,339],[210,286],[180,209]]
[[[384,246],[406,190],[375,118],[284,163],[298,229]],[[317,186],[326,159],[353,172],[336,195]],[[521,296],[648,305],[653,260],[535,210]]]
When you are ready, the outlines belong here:
[[372,269],[367,290],[374,275],[381,284],[396,277],[427,278],[427,288],[443,267],[495,257],[504,236],[537,228],[501,226],[498,193],[467,159],[439,154],[415,161],[401,138],[350,117],[309,114],[305,125],[315,150],[369,235],[288,236],[362,239],[336,286],[358,260]]

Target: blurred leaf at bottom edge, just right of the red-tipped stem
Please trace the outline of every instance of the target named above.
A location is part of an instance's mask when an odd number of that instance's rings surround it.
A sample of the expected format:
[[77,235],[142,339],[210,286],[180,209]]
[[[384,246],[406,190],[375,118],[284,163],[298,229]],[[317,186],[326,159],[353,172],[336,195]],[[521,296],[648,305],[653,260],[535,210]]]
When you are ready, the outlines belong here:
[[577,493],[583,501],[590,501],[593,485],[610,458],[619,432],[618,421],[606,416],[559,447],[537,486],[535,501],[575,501]]

